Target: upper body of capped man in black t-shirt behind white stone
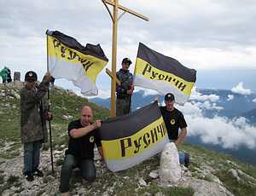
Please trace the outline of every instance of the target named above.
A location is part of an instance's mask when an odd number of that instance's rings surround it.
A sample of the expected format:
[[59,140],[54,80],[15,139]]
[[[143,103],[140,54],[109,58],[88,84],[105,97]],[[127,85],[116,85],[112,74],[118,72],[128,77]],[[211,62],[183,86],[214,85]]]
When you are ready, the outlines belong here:
[[[174,107],[175,98],[172,93],[165,95],[165,103],[166,107],[160,107],[160,112],[166,124],[169,140],[173,141],[177,146],[187,135],[187,123],[183,117],[183,113]],[[181,129],[179,135],[178,129]]]

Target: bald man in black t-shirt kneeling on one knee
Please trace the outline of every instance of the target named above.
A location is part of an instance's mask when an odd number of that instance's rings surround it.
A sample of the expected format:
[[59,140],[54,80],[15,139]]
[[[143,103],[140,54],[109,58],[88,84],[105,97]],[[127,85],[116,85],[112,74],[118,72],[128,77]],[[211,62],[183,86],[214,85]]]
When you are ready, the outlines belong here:
[[98,135],[98,128],[101,127],[101,121],[96,120],[92,123],[93,112],[90,107],[84,106],[81,109],[81,118],[68,124],[68,149],[64,164],[61,167],[61,185],[62,195],[68,195],[69,179],[75,167],[79,167],[82,177],[87,181],[96,179],[96,167],[94,164],[95,144],[103,158],[102,144]]

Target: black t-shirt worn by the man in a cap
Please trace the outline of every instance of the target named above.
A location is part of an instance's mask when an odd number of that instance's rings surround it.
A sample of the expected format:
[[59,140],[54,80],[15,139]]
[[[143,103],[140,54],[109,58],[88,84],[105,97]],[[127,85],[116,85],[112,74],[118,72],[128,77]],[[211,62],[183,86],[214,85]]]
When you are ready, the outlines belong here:
[[177,140],[178,129],[187,127],[183,113],[176,108],[174,108],[172,112],[167,111],[166,107],[160,107],[160,112],[164,118],[169,139]]

